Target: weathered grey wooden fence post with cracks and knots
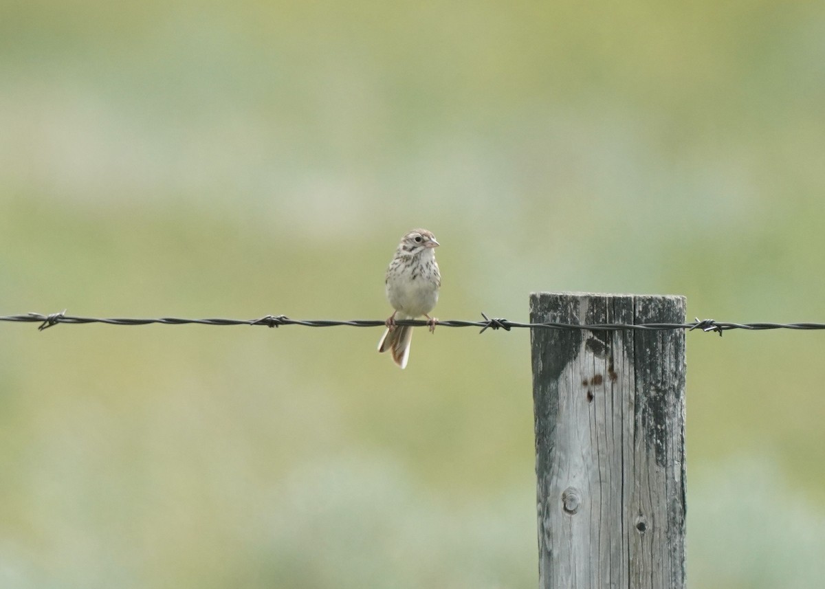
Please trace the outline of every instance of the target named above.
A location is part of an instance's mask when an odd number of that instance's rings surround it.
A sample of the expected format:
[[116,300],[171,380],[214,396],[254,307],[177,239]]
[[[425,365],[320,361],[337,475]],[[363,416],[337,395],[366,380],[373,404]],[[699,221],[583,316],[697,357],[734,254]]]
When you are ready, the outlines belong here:
[[[684,323],[685,298],[534,293],[531,323]],[[685,587],[685,331],[530,330],[540,589]]]

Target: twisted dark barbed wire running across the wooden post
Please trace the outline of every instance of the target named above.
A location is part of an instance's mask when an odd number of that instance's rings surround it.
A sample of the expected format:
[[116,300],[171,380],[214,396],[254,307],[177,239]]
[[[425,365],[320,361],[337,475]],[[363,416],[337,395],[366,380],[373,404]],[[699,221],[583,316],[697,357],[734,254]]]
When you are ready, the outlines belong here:
[[[589,323],[589,324],[575,324],[575,323],[521,323],[517,321],[510,321],[504,318],[488,318],[485,313],[481,313],[483,321],[460,321],[456,319],[448,319],[446,321],[438,321],[441,327],[481,327],[479,333],[483,333],[488,329],[503,329],[509,332],[513,327],[524,327],[529,329],[559,329],[559,330],[578,330],[591,332],[616,332],[623,330],[639,330],[639,331],[665,331],[668,329],[686,329],[693,331],[699,329],[703,332],[716,332],[721,336],[723,332],[731,329],[746,329],[750,331],[764,331],[768,329],[825,329],[825,323],[728,323],[724,321],[715,321],[714,319],[700,319],[696,318],[691,323]],[[164,325],[186,325],[196,323],[199,325],[263,325],[266,327],[282,327],[285,325],[300,325],[303,327],[384,327],[386,322],[380,319],[351,319],[348,321],[339,321],[335,319],[290,319],[285,315],[265,315],[257,319],[223,319],[223,318],[205,318],[205,319],[186,319],[176,317],[160,317],[160,318],[92,318],[92,317],[77,317],[74,315],[67,315],[66,309],[59,313],[50,313],[44,315],[42,313],[26,313],[21,315],[7,315],[0,316],[0,321],[12,321],[21,323],[40,323],[37,327],[43,331],[47,327],[58,325],[59,323],[67,323],[69,325],[80,325],[85,323],[106,323],[107,325],[148,325],[151,323],[163,323]],[[404,319],[398,320],[396,325],[410,325],[413,327],[425,327],[430,325],[428,321],[422,319]]]

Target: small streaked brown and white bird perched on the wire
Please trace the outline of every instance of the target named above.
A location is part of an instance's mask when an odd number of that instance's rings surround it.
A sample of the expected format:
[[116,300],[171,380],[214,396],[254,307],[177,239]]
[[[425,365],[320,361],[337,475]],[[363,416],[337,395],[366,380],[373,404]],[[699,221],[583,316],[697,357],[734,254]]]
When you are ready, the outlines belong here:
[[440,244],[427,229],[413,229],[401,239],[395,257],[387,268],[386,291],[394,313],[387,318],[387,329],[378,342],[378,351],[389,350],[395,363],[407,366],[413,327],[396,325],[395,319],[426,317],[430,332],[436,331],[438,319],[430,313],[438,302],[441,272],[438,271],[435,248]]

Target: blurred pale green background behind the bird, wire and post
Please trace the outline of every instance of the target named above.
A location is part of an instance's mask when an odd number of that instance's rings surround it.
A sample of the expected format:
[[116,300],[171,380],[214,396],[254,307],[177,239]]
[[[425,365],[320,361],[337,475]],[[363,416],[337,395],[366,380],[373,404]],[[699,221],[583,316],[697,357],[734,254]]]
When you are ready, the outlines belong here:
[[[3,2],[0,314],[825,320],[821,2]],[[529,334],[0,325],[0,586],[535,587]],[[821,332],[688,334],[688,582],[821,587]]]

